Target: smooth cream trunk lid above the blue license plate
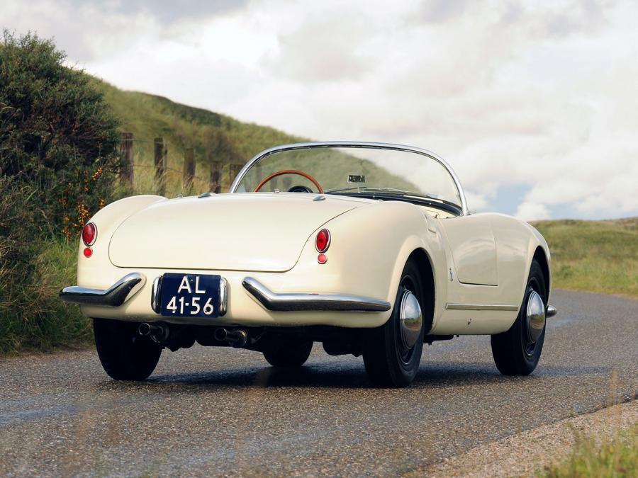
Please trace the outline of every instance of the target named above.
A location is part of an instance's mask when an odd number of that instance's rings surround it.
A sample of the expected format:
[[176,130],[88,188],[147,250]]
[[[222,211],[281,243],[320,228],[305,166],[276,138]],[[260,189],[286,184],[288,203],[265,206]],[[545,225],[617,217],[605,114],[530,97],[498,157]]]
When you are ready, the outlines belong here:
[[162,201],[111,237],[111,263],[127,268],[283,272],[318,227],[365,203],[299,193],[239,193]]

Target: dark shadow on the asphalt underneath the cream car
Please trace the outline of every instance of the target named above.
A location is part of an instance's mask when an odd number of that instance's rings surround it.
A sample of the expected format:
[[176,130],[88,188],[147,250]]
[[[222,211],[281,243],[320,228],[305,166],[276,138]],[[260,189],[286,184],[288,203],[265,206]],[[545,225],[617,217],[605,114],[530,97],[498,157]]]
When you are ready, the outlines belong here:
[[[544,365],[527,377],[500,375],[493,363],[422,363],[411,388],[459,387],[463,385],[488,385],[522,380],[547,380],[548,377],[566,375],[592,375],[605,372],[605,367],[561,367]],[[130,382],[118,382],[126,387]],[[176,387],[176,385],[183,387]],[[110,382],[109,387],[113,387]],[[136,387],[139,387],[138,383]],[[286,370],[273,367],[251,367],[243,369],[211,370],[177,375],[154,375],[146,387],[155,392],[179,392],[194,387],[310,387],[339,389],[374,389],[368,380],[363,364],[352,360],[311,363],[303,368]]]

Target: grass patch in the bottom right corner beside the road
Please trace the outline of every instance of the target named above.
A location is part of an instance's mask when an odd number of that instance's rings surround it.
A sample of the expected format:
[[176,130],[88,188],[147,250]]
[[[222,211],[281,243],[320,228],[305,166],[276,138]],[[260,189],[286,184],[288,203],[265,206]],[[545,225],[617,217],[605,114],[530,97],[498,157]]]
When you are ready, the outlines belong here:
[[576,446],[568,457],[547,467],[547,478],[620,478],[638,476],[638,426],[612,440],[598,443],[591,437],[576,436]]

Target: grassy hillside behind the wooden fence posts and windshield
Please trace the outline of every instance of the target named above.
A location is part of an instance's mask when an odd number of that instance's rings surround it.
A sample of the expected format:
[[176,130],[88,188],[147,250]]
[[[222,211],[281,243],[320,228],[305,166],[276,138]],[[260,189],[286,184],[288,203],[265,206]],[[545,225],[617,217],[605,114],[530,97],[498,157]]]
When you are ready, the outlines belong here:
[[[234,118],[202,108],[194,108],[170,101],[162,96],[122,91],[99,79],[94,86],[101,91],[106,102],[121,120],[121,131],[132,132],[133,161],[135,163],[135,192],[150,193],[154,190],[153,140],[162,137],[167,144],[167,195],[186,193],[182,191],[181,171],[184,164],[184,151],[194,148],[196,158],[196,180],[194,191],[208,190],[210,161],[222,161],[222,190],[230,186],[229,164],[245,162],[268,147],[276,144],[307,141],[305,138],[287,135],[272,127],[242,123]],[[345,161],[348,159],[349,161]],[[320,182],[335,183],[335,180],[347,173],[364,173],[369,181],[385,183],[394,188],[418,190],[408,181],[393,176],[385,169],[370,161],[359,161],[357,171],[347,171],[352,166],[352,157],[333,152],[323,152],[313,161],[299,163],[298,167],[313,175]],[[318,164],[317,161],[321,161]],[[276,164],[272,164],[276,166]],[[315,167],[313,167],[315,166]],[[289,169],[290,163],[283,166]],[[273,171],[262,171],[264,175]],[[320,177],[323,176],[323,177]],[[304,183],[296,178],[295,183]],[[285,184],[285,182],[284,182]],[[310,185],[310,183],[308,183]]]

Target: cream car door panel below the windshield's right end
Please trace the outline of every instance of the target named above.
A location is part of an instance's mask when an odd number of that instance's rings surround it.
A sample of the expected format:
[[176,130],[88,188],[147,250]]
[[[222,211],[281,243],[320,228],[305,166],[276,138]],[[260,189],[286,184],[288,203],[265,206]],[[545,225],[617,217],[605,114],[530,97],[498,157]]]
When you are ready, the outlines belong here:
[[460,283],[498,285],[496,241],[488,215],[442,219]]

